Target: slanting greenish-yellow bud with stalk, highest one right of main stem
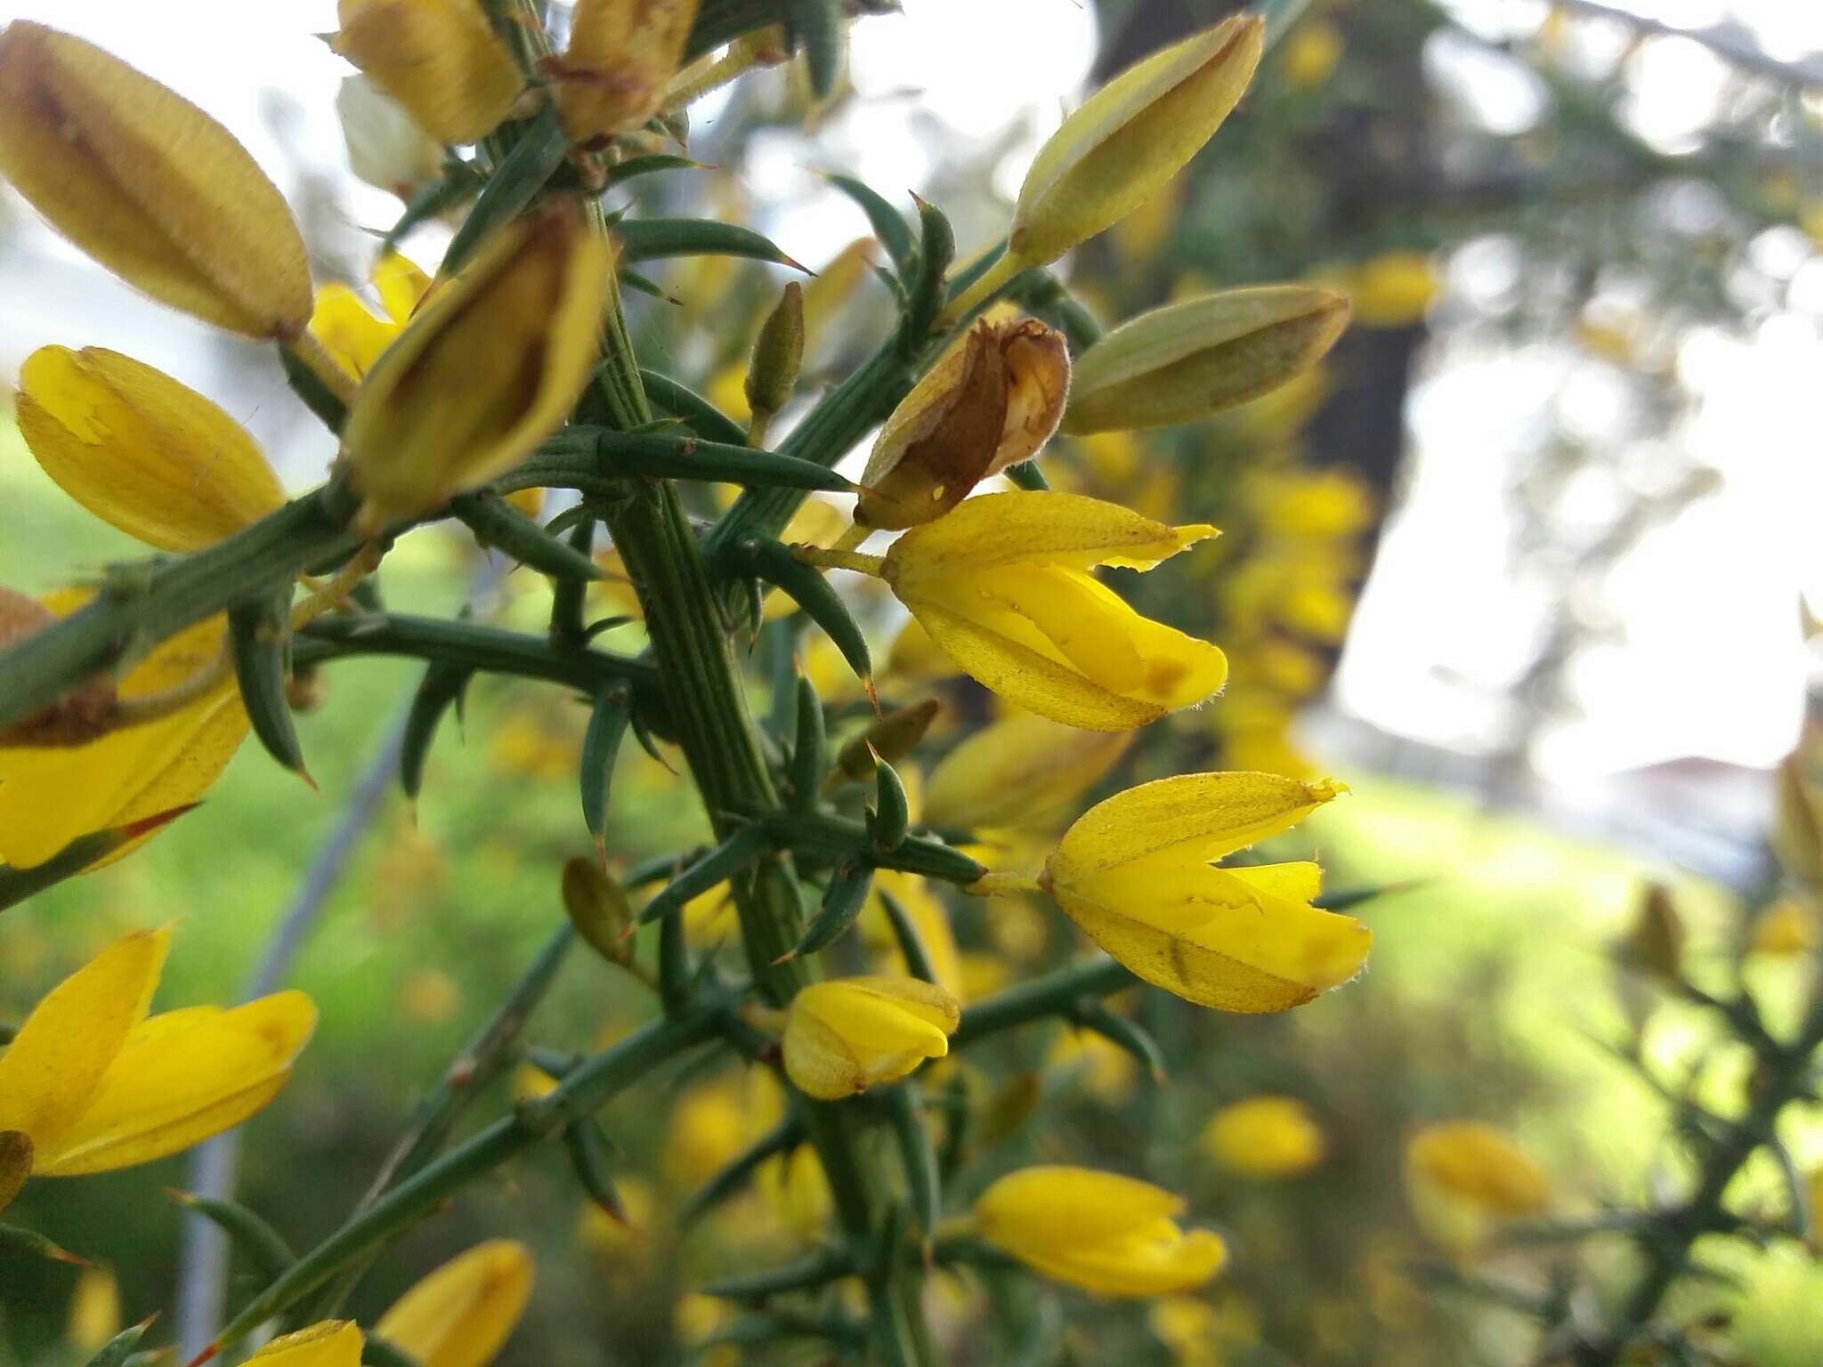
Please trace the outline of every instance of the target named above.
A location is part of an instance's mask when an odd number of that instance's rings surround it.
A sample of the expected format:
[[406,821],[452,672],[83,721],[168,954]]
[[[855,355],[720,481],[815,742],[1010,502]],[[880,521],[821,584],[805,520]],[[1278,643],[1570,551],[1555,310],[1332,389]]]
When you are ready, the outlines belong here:
[[1150,199],[1209,142],[1260,66],[1265,24],[1234,15],[1127,67],[1050,135],[1026,171],[1004,255],[955,317]]

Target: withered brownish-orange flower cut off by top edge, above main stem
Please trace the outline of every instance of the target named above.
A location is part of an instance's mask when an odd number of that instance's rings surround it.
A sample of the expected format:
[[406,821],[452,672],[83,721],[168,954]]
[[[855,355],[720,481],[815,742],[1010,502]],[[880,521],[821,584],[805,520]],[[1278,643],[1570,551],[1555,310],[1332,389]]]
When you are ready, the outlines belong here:
[[658,113],[695,22],[696,0],[578,0],[569,47],[549,64],[571,142],[592,148]]

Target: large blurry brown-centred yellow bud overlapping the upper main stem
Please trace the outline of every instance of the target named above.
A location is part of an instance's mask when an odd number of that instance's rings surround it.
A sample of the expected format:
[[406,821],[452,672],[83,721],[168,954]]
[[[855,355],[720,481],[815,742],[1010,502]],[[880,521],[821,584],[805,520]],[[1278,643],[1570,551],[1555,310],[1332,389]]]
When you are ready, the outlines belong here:
[[609,268],[582,210],[556,204],[432,292],[348,410],[363,527],[505,474],[563,423],[596,363]]

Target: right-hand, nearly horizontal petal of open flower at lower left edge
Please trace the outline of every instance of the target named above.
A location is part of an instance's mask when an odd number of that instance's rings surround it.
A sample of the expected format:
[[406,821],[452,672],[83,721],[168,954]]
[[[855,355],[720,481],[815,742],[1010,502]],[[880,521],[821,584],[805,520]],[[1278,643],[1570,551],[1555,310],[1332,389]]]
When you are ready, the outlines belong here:
[[84,1112],[40,1145],[38,1174],[128,1168],[239,1125],[279,1094],[315,1023],[301,992],[151,1017],[128,1037]]

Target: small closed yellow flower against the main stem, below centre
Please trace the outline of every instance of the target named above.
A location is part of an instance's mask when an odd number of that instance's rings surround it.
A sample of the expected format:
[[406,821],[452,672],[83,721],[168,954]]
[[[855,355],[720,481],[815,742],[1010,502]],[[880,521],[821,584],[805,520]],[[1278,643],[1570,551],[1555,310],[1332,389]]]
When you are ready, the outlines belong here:
[[813,982],[791,999],[786,1074],[806,1095],[839,1101],[944,1057],[961,1019],[955,997],[910,977]]

